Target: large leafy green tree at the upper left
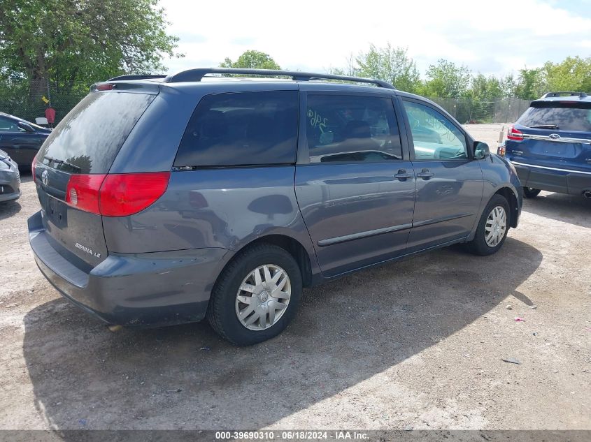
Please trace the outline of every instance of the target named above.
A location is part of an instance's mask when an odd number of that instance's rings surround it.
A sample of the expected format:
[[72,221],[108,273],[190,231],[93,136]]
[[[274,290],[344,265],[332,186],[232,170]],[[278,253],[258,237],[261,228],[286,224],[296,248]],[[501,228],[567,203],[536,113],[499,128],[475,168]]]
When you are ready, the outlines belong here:
[[122,73],[164,68],[178,38],[158,0],[0,0],[0,66],[35,95],[52,82],[71,90]]

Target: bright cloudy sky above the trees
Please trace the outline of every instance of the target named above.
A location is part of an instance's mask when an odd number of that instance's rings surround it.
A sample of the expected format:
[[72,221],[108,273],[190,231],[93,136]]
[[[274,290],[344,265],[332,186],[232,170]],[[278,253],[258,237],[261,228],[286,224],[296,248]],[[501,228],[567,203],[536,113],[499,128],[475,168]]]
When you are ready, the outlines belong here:
[[408,48],[421,71],[438,59],[506,75],[578,55],[591,57],[591,0],[183,1],[160,0],[178,36],[169,72],[218,66],[245,50],[282,68],[345,67],[370,43]]

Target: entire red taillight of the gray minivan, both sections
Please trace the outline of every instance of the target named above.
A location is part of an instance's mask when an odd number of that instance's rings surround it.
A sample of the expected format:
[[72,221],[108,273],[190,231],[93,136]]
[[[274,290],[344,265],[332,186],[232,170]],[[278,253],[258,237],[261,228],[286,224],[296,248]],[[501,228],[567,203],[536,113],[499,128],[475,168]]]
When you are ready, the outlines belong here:
[[66,203],[103,216],[129,216],[152,205],[166,191],[170,172],[72,175]]

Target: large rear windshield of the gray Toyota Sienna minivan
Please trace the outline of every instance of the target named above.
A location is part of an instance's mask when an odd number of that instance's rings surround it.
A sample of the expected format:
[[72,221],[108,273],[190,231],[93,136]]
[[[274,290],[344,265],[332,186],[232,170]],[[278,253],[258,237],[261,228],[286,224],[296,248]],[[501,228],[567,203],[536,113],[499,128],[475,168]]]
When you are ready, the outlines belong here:
[[38,161],[69,173],[107,173],[155,95],[93,92],[49,135]]

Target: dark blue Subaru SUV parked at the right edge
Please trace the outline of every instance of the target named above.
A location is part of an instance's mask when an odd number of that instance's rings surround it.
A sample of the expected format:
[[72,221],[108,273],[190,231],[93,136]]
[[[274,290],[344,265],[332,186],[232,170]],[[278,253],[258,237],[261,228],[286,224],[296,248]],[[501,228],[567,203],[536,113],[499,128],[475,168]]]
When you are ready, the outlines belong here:
[[499,154],[515,165],[526,198],[541,190],[591,198],[591,96],[548,92],[507,138]]

